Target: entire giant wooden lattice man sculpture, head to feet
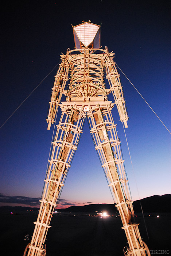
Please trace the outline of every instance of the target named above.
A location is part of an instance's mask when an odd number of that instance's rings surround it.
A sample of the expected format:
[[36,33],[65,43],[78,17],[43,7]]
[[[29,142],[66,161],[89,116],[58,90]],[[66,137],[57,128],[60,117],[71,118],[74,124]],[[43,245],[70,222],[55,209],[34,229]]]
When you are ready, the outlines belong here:
[[[73,27],[75,46],[61,55],[61,64],[55,76],[54,87],[47,116],[48,130],[55,122],[58,107],[61,118],[51,145],[46,179],[40,210],[31,243],[24,255],[46,254],[45,239],[55,206],[70,163],[77,150],[85,118],[88,118],[90,133],[104,169],[109,187],[113,193],[120,214],[128,247],[126,256],[150,255],[147,245],[141,240],[138,224],[128,187],[121,142],[117,136],[112,117],[116,105],[120,121],[127,126],[128,114],[125,106],[120,75],[117,72],[114,53],[100,47],[100,26],[84,22]],[[97,43],[97,44],[96,44]],[[97,48],[93,48],[96,45]],[[97,53],[94,53],[94,52]],[[106,83],[107,81],[107,83]],[[108,100],[108,95],[113,101]],[[65,100],[61,101],[62,96]]]

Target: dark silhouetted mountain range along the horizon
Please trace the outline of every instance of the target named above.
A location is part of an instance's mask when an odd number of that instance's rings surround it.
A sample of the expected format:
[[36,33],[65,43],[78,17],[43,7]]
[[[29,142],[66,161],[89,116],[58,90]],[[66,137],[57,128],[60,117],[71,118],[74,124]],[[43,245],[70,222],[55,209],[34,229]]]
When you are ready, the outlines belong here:
[[[141,205],[143,208],[144,213],[170,213],[171,212],[171,195],[153,195],[149,196],[147,198],[136,200],[133,202],[133,209],[135,213],[141,212]],[[65,209],[56,209],[57,211],[61,212],[80,212],[80,213],[95,213],[95,212],[101,212],[101,211],[108,211],[108,213],[115,213],[116,212],[116,204],[92,204],[92,205],[83,205],[83,206],[70,206]],[[1,206],[0,212],[18,212],[18,211],[38,211],[39,208],[34,207],[22,207],[22,206]]]

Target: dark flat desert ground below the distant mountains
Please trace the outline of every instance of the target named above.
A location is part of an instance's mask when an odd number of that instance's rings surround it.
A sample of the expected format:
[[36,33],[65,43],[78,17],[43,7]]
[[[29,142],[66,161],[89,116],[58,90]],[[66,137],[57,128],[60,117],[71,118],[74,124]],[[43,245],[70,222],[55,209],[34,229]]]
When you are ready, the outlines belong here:
[[[159,213],[157,213],[159,214]],[[142,216],[136,217],[143,240],[150,250],[169,250],[171,214],[145,214],[149,240]],[[75,216],[74,216],[75,215]],[[24,236],[32,236],[36,213],[1,214],[1,254],[2,256],[22,256],[29,241]],[[82,214],[53,215],[52,227],[47,234],[47,256],[121,256],[127,245],[125,232],[121,229],[120,217],[92,217]],[[168,254],[169,255],[169,254]]]

